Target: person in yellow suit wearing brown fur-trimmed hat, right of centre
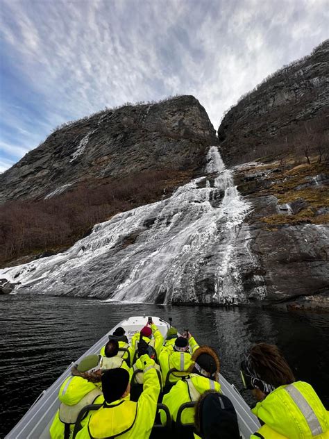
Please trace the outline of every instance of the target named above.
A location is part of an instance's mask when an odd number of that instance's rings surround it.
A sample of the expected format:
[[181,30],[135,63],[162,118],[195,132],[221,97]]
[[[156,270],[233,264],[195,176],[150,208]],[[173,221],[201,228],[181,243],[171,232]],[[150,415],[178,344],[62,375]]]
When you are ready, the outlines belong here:
[[[221,390],[219,384],[219,358],[208,346],[199,347],[192,355],[189,379],[178,381],[170,392],[164,395],[162,402],[169,408],[172,419],[176,422],[178,409],[189,401],[197,401],[205,390]],[[161,422],[165,424],[165,415],[161,411]],[[194,409],[183,411],[183,424],[194,422]]]

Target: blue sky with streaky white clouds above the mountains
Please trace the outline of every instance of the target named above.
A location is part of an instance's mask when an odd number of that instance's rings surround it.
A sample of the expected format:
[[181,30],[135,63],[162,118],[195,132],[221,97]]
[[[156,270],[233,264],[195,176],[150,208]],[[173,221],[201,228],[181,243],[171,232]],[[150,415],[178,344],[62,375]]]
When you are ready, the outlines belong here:
[[53,128],[193,94],[217,129],[262,79],[328,38],[329,0],[0,0],[0,172]]

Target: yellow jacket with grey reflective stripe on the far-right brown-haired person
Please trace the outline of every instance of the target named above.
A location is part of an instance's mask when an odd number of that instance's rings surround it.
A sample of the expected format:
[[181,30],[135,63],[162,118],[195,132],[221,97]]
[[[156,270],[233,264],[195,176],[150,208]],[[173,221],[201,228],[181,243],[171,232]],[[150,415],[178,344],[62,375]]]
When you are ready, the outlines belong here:
[[329,439],[328,411],[303,381],[276,388],[252,412],[264,422],[253,439]]

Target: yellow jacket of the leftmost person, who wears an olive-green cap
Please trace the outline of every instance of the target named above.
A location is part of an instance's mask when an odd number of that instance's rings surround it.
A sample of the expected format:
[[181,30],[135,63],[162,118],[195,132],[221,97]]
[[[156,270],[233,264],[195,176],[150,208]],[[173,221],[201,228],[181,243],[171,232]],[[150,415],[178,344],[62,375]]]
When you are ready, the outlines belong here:
[[[98,383],[97,383],[98,384]],[[88,404],[102,404],[103,395],[99,387],[90,383],[81,376],[69,376],[60,386],[58,399],[60,399],[60,408],[53,418],[53,423],[49,429],[51,439],[63,439],[65,423],[69,424],[70,435],[73,433],[76,418],[81,409]],[[90,418],[91,413],[83,419],[81,425],[84,425]]]

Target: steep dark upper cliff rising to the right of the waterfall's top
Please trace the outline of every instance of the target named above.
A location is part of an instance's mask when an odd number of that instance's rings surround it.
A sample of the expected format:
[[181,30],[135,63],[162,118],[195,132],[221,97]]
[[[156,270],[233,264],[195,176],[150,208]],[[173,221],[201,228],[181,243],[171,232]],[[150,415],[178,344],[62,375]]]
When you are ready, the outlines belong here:
[[[218,129],[221,154],[228,165],[271,154],[269,145],[293,142],[305,122],[326,127],[329,104],[329,40],[313,53],[283,67],[262,82],[223,118]],[[311,122],[310,122],[311,123]],[[328,125],[328,124],[327,124]]]

